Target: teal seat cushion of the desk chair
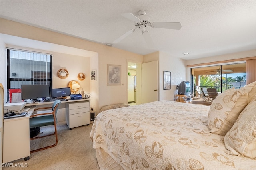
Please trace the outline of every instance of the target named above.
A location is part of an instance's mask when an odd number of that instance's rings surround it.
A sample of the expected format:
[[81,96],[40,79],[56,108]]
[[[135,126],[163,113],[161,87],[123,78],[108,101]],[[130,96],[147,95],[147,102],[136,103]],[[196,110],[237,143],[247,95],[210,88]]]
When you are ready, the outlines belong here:
[[48,125],[54,125],[54,119],[52,115],[32,117],[29,119],[30,128]]

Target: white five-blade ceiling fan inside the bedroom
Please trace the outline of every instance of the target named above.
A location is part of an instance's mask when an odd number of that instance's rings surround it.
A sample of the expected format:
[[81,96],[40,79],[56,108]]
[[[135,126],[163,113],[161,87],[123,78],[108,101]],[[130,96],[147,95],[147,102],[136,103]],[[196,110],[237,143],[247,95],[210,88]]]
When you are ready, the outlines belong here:
[[151,26],[153,28],[167,28],[167,29],[175,29],[175,30],[180,30],[181,24],[180,22],[150,22],[150,18],[146,16],[146,11],[145,10],[140,10],[138,12],[139,16],[136,17],[132,13],[123,13],[122,16],[125,18],[132,20],[135,22],[135,28],[132,28],[128,32],[124,33],[122,36],[117,38],[116,40],[113,41],[114,44],[120,42],[132,32],[134,32],[137,28],[142,30],[142,35],[148,45],[148,47],[154,47],[154,43],[150,37],[149,31],[146,30],[148,26]]

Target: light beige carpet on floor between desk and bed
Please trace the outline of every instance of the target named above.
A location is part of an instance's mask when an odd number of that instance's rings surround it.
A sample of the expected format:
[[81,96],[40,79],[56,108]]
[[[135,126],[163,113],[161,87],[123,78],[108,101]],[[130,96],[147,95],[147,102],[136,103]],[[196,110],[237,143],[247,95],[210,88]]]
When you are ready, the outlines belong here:
[[[81,127],[72,128],[65,121],[58,122],[58,144],[39,152],[30,154],[30,159],[15,160],[11,167],[3,167],[3,170],[100,170],[96,150],[92,147],[89,138],[92,123]],[[54,131],[54,126],[41,127],[45,135]],[[18,142],[18,141],[17,141]],[[30,141],[30,149],[54,144],[55,135]],[[23,167],[17,167],[23,166]]]

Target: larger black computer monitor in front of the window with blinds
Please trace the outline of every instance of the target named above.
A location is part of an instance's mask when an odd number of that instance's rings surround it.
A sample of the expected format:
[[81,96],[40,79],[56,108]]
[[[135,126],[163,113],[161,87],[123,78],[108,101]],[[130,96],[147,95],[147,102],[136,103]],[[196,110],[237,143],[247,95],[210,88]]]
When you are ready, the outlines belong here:
[[39,98],[50,97],[49,85],[21,85],[22,100],[36,100]]

